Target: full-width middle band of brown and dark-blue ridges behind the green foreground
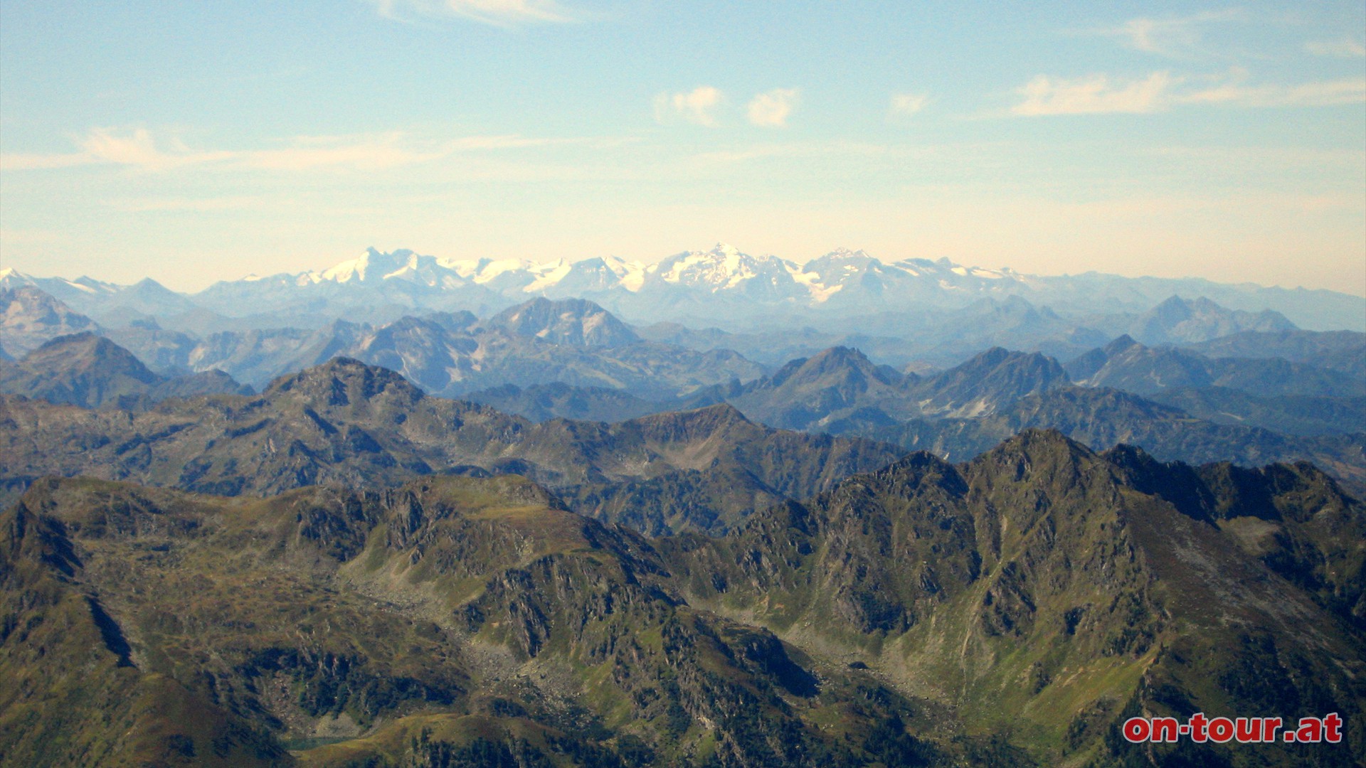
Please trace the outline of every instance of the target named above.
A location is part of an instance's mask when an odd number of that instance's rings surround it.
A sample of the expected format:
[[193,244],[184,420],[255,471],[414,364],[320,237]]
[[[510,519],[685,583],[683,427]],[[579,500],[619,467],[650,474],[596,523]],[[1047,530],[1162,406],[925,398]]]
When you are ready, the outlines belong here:
[[[1213,392],[1225,392],[1220,404],[1239,403],[1227,395],[1235,391]],[[604,424],[555,414],[535,424],[428,396],[389,369],[347,358],[283,376],[255,398],[172,399],[139,413],[8,396],[0,400],[7,425],[0,455],[8,456],[0,482],[11,497],[44,474],[277,493],[314,482],[392,485],[429,473],[516,473],[583,514],[646,533],[723,532],[757,506],[814,492],[899,450],[966,459],[1023,429],[1049,428],[1096,448],[1142,445],[1164,461],[1313,461],[1350,488],[1366,488],[1366,433],[1348,429],[1362,421],[1362,398],[1243,395],[1247,417],[1229,424],[1131,392],[1070,384],[1056,361],[1037,353],[989,350],[922,379],[836,348],[691,402],[646,409],[646,400],[623,402],[616,391],[567,385],[560,395],[541,407],[597,409],[593,415],[620,415],[607,411],[624,407],[635,418]],[[703,407],[678,410],[687,406]],[[1279,433],[1243,424],[1295,417],[1292,406],[1318,429]],[[641,414],[665,407],[675,410]],[[1347,418],[1328,424],[1332,413]]]

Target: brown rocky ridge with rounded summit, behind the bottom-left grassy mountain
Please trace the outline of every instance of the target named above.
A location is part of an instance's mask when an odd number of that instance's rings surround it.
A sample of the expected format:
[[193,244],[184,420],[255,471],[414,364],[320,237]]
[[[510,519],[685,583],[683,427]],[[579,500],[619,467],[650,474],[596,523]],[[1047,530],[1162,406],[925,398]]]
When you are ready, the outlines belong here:
[[239,495],[515,473],[646,533],[727,530],[754,508],[902,454],[862,437],[770,429],[728,404],[533,424],[428,396],[393,370],[346,358],[283,376],[261,396],[176,398],[135,414],[0,395],[0,425],[5,503],[48,474]]

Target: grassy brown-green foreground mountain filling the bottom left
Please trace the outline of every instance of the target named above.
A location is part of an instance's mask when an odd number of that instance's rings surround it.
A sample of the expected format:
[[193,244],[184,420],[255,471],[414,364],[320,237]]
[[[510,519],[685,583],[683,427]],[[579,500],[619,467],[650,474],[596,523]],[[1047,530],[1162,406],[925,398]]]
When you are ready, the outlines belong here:
[[557,507],[512,477],[266,500],[36,485],[0,517],[0,675],[20,681],[0,764],[938,754],[904,697],[687,607],[646,540]]

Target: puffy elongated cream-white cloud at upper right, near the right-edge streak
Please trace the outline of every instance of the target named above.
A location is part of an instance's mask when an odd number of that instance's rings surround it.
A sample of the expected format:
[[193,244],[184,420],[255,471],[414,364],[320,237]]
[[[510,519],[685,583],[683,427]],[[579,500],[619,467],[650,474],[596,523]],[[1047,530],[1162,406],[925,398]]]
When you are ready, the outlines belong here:
[[1145,113],[1167,107],[1167,90],[1180,79],[1153,72],[1141,81],[1111,83],[1106,75],[1055,79],[1038,75],[1016,93],[1024,100],[1011,108],[1015,115],[1094,115],[1109,112]]

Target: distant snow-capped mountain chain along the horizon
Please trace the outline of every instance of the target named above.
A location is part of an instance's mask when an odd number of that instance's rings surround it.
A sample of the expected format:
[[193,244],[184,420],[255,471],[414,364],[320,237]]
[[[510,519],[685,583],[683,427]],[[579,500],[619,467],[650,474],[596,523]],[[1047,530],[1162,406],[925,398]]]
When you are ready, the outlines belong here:
[[[322,312],[366,321],[393,320],[395,312],[413,310],[469,309],[488,316],[537,295],[593,299],[613,313],[645,323],[754,321],[775,310],[817,316],[906,312],[1009,297],[1072,313],[1145,313],[1172,295],[1186,295],[1247,313],[1243,320],[1253,328],[1235,329],[1280,329],[1274,314],[1262,314],[1273,310],[1307,328],[1366,331],[1361,312],[1366,299],[1325,290],[1100,273],[1041,276],[1008,268],[964,266],[945,258],[882,262],[866,251],[848,249],[800,264],[770,254],[747,254],[725,243],[705,251],[678,253],[654,264],[619,257],[542,264],[452,260],[372,247],[358,258],[322,271],[220,282],[193,297],[180,297],[190,302],[189,307],[173,301],[179,294],[168,297],[164,288],[157,291],[160,286],[135,295],[128,292],[130,287],[86,277],[34,279],[14,269],[0,271],[0,288],[20,284],[49,290],[78,312],[94,316],[120,307],[138,312],[158,307],[165,313],[202,307],[227,317]],[[1176,339],[1184,333],[1179,325],[1198,320],[1198,314],[1199,307],[1186,317],[1149,320],[1171,327]]]

